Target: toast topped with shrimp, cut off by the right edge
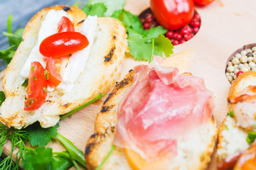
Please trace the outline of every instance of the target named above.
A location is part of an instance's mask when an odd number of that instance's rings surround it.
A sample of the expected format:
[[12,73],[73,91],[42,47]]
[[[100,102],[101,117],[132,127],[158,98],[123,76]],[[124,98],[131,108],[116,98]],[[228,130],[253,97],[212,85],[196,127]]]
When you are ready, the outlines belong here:
[[218,134],[218,169],[232,169],[253,141],[248,134],[256,128],[256,72],[240,74],[230,86],[228,115]]

